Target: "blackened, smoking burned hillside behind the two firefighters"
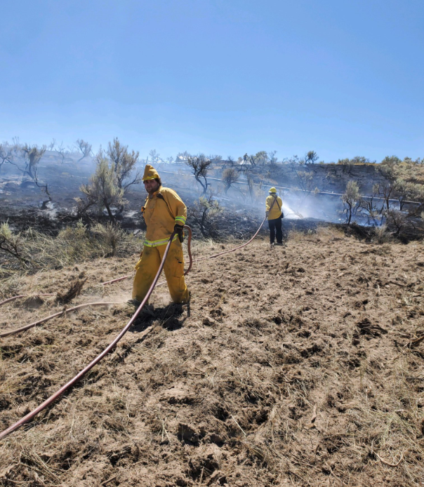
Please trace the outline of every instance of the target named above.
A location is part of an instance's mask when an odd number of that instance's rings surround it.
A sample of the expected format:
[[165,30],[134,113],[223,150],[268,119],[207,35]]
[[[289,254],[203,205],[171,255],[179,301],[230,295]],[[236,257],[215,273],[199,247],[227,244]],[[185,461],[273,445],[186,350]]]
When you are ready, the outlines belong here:
[[[122,150],[124,146],[116,139],[110,147]],[[258,154],[263,153],[266,154]],[[112,218],[128,232],[143,229],[140,208],[146,193],[143,185],[138,184],[143,164],[137,159],[138,153],[131,154],[135,165],[129,181],[133,182],[126,188],[121,203],[108,210],[109,216],[105,208],[98,208],[90,201],[84,203],[84,193],[81,192],[93,177],[98,156],[81,159],[77,154],[62,157],[57,150],[46,151],[34,170],[35,179],[34,174],[31,177],[24,171],[25,160],[18,159],[20,169],[18,163],[18,166],[3,164],[0,174],[1,222],[8,220],[17,231],[32,227],[49,234],[57,234],[66,225],[75,225],[81,219],[91,225],[93,221],[105,223]],[[210,220],[214,213],[225,214],[225,218],[221,218],[223,222],[232,219],[233,215],[234,218],[241,216],[242,229],[232,232],[234,225],[230,225],[225,227],[222,235],[224,239],[230,235],[239,238],[263,218],[263,200],[270,185],[277,186],[283,197],[286,222],[307,218],[336,223],[352,220],[364,226],[387,225],[390,232],[399,236],[404,234],[406,240],[420,236],[424,209],[424,166],[420,159],[401,161],[392,156],[381,164],[363,162],[362,159],[346,159],[339,161],[340,164],[305,164],[301,159],[283,163],[264,160],[254,166],[214,159],[207,162],[204,177],[197,179],[187,161],[179,164],[157,161],[155,164],[164,185],[173,187],[190,206],[189,215],[194,217],[190,225],[200,238],[219,238],[211,222],[208,222],[209,229],[199,225],[202,219],[199,211],[204,211],[205,206],[203,196],[206,206],[209,204],[212,210],[219,210],[206,211]],[[357,194],[350,196],[352,201],[346,205],[343,198],[350,184],[357,187]],[[202,194],[203,187],[207,188],[206,194]],[[244,218],[248,225],[244,225]],[[249,222],[254,223],[249,225]],[[291,225],[303,227],[300,222],[292,221]]]

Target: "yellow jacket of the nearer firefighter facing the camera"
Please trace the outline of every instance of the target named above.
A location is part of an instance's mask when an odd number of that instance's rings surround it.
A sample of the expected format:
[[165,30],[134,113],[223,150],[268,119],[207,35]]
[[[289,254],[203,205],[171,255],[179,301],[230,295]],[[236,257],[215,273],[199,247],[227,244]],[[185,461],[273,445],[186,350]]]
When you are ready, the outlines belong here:
[[[173,189],[159,187],[152,196],[147,196],[141,208],[147,225],[145,246],[156,247],[168,244],[175,225],[185,225],[187,208]],[[174,239],[178,237],[175,235]]]

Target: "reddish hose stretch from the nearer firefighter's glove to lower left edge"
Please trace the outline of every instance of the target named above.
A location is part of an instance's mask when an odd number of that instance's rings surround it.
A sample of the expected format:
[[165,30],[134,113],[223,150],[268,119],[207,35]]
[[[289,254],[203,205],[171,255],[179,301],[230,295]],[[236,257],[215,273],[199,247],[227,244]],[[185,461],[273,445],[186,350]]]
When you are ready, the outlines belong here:
[[32,418],[34,418],[34,416],[36,416],[38,413],[41,413],[41,411],[43,411],[47,406],[49,406],[56,399],[58,399],[58,397],[61,396],[67,389],[69,389],[69,387],[71,387],[76,382],[78,382],[81,378],[83,378],[84,375],[86,375],[86,373],[88,371],[90,371],[91,368],[93,368],[96,363],[100,362],[100,360],[106,354],[108,354],[115,347],[115,345],[117,345],[117,343],[119,342],[119,340],[121,340],[121,338],[125,335],[125,333],[130,328],[130,326],[133,324],[133,322],[135,321],[135,318],[137,318],[138,314],[143,309],[143,307],[146,304],[147,300],[150,298],[150,295],[152,294],[152,292],[154,290],[154,286],[156,286],[156,283],[157,283],[157,281],[159,279],[159,276],[161,275],[162,269],[164,269],[164,264],[165,264],[166,256],[168,255],[169,247],[171,246],[171,242],[172,242],[172,239],[173,239],[173,236],[174,235],[175,235],[175,232],[172,232],[171,236],[169,237],[169,241],[168,241],[168,244],[166,245],[166,249],[165,249],[165,253],[164,253],[164,258],[162,259],[161,265],[159,267],[159,270],[157,271],[156,276],[154,276],[154,280],[152,282],[152,286],[150,286],[150,289],[149,289],[149,291],[147,291],[147,295],[145,296],[143,302],[141,302],[141,304],[138,307],[137,311],[133,314],[133,316],[131,317],[130,321],[128,321],[128,323],[126,323],[126,326],[124,326],[124,328],[122,329],[121,333],[119,333],[119,335],[117,336],[117,338],[115,338],[113,340],[113,342],[111,342],[110,345],[108,345],[103,350],[103,352],[101,354],[99,354],[98,356],[96,356],[95,359],[93,359],[93,361],[91,361],[90,363],[88,363],[88,366],[86,366],[85,368],[83,368],[83,370],[80,371],[79,373],[77,373],[77,375],[75,375],[74,378],[72,378],[71,380],[69,380],[69,382],[67,382],[62,387],[60,387],[60,389],[58,391],[56,391],[54,394],[52,394],[48,399],[46,399],[46,401],[44,401],[43,403],[41,403],[37,408],[35,408],[33,411],[31,411],[30,413],[28,413],[27,415],[25,415],[19,421],[15,422],[14,425],[9,426],[7,429],[5,429],[3,432],[1,432],[0,433],[0,439],[3,439],[5,436],[8,436],[8,434],[11,434],[11,432],[14,432],[15,429],[18,429],[20,426],[25,425],[26,422],[28,422],[29,420],[32,420]]

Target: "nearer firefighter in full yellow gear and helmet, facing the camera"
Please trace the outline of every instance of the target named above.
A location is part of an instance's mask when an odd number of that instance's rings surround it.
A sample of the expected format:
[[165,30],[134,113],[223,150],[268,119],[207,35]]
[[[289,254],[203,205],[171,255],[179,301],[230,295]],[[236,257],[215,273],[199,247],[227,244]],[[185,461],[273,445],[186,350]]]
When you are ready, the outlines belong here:
[[145,166],[143,182],[148,193],[141,208],[147,225],[145,243],[135,266],[133,300],[141,302],[156,276],[166,244],[175,229],[175,236],[165,260],[164,273],[173,302],[187,302],[189,292],[184,281],[183,227],[187,208],[173,189],[163,187],[156,169]]

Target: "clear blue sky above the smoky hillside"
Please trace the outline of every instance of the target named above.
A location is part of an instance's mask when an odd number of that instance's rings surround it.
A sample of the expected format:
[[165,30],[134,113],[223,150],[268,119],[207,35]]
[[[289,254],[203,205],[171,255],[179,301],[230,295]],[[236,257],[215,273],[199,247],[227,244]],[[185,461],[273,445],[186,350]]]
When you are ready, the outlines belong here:
[[6,0],[0,140],[424,156],[422,0]]

